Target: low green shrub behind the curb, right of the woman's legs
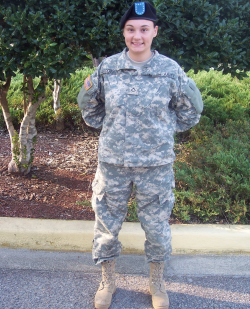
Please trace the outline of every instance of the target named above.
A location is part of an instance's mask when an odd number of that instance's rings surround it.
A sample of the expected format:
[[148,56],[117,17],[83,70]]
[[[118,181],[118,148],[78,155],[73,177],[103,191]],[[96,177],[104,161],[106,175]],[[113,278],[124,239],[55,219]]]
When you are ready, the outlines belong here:
[[177,145],[174,215],[183,221],[249,223],[249,142],[248,121],[214,127],[203,116],[189,142]]

